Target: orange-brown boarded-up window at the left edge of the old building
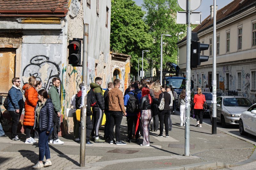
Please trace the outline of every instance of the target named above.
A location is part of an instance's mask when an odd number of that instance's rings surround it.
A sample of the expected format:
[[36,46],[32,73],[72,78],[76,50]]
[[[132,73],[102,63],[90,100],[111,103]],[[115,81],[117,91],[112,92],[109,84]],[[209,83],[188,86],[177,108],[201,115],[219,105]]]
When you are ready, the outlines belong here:
[[15,75],[15,51],[0,50],[0,93],[7,93]]

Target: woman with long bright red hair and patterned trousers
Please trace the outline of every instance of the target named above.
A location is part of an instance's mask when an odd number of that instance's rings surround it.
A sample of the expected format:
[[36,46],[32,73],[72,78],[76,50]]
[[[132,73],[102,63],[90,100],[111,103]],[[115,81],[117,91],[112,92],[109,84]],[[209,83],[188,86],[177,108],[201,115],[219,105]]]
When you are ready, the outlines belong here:
[[143,143],[140,146],[149,146],[149,123],[152,119],[151,104],[152,98],[149,94],[149,88],[142,88],[142,96],[140,99],[140,114],[141,114],[141,123],[143,127]]

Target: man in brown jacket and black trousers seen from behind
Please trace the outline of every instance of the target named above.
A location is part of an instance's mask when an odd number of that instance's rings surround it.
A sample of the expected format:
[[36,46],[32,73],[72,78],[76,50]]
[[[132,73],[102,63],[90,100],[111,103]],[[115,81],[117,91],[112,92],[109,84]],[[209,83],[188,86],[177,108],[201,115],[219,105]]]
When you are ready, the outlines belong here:
[[116,125],[116,144],[124,145],[120,139],[120,126],[123,116],[126,116],[124,109],[124,96],[123,92],[119,90],[120,80],[114,80],[114,88],[108,92],[108,110],[110,112],[110,144],[114,143],[114,126]]

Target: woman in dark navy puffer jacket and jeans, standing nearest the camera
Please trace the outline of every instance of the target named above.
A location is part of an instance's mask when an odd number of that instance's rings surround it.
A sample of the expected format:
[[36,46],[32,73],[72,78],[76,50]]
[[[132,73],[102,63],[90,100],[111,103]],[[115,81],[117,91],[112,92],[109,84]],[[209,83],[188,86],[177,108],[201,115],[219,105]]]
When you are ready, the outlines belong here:
[[[39,161],[33,166],[33,169],[40,169],[41,167],[52,165],[48,139],[53,130],[53,113],[53,104],[51,99],[48,98],[47,91],[45,89],[38,91],[34,129],[39,133]],[[44,156],[46,158],[45,164],[43,164]]]

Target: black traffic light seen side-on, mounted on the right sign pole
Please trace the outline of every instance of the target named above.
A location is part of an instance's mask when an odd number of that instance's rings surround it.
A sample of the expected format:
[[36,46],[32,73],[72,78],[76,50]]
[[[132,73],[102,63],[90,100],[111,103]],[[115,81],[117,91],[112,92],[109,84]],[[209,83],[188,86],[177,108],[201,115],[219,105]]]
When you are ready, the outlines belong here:
[[197,37],[197,33],[192,33],[191,39],[191,53],[190,53],[190,68],[197,68],[201,64],[201,62],[208,61],[209,56],[200,55],[201,51],[207,50],[209,48],[209,44],[201,44],[199,38]]

